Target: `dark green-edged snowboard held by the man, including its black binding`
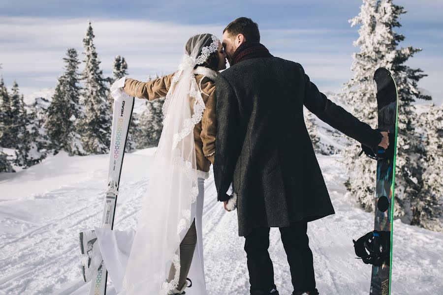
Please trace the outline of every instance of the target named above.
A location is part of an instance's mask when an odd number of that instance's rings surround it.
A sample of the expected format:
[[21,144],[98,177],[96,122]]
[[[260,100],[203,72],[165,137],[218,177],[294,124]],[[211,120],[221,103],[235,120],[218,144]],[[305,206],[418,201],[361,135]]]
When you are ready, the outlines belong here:
[[370,295],[390,295],[398,93],[391,73],[385,68],[376,70],[374,82],[377,91],[378,129],[389,131],[389,147],[386,150],[379,148],[376,153],[367,153],[371,158],[377,159],[374,231],[354,241],[354,247],[355,253],[364,263],[372,264]]

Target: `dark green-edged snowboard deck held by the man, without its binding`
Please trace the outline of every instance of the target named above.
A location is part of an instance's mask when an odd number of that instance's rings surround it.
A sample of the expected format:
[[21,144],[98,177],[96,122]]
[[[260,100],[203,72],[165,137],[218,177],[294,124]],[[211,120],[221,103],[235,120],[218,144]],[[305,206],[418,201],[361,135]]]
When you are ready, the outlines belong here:
[[370,295],[390,295],[398,93],[391,73],[385,68],[375,71],[374,83],[377,91],[378,129],[389,131],[389,147],[386,150],[379,147],[377,152],[374,235],[377,235],[377,232],[379,235],[385,235],[389,243],[389,257],[386,257],[381,265],[372,266]]

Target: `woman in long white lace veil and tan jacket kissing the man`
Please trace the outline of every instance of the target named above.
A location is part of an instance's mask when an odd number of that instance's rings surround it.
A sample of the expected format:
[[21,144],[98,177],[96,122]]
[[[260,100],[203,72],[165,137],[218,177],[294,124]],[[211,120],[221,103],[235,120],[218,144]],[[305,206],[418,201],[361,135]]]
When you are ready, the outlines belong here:
[[225,68],[219,39],[198,34],[186,43],[174,74],[147,83],[122,78],[111,88],[114,98],[122,89],[149,100],[166,96],[163,130],[137,231],[95,229],[118,294],[185,294],[188,275],[188,293],[207,294],[201,226],[204,179],[214,163],[214,80]]

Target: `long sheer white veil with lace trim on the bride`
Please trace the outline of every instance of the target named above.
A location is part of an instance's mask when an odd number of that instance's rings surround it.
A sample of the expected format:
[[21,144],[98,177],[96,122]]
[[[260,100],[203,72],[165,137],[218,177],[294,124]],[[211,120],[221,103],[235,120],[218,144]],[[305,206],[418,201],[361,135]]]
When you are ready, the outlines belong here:
[[[190,228],[191,206],[198,194],[197,178],[202,174],[196,167],[193,129],[205,105],[193,70],[217,51],[218,43],[219,39],[211,34],[191,37],[166,95],[163,130],[152,164],[148,196],[138,213],[123,294],[166,295],[178,285],[179,246]],[[171,264],[176,273],[168,282]]]

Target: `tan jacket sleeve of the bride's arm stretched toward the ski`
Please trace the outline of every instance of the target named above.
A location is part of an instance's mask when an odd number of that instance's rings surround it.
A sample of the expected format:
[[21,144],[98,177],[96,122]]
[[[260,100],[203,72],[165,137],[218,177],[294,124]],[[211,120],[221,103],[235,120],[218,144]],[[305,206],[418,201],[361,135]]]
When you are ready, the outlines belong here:
[[123,90],[130,96],[148,100],[165,97],[169,87],[171,87],[173,76],[174,74],[170,74],[149,82],[140,82],[127,78]]

